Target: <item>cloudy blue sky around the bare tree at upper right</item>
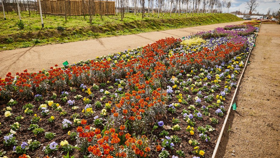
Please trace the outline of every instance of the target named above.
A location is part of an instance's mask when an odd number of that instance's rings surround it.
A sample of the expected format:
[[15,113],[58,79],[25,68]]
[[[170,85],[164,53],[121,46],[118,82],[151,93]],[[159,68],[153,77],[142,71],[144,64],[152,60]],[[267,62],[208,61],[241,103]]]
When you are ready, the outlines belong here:
[[[246,12],[248,13],[248,9],[246,9],[246,1],[247,0],[231,0],[231,6],[229,8],[230,12],[240,10],[240,12],[243,12],[244,10],[247,10]],[[268,8],[273,9],[279,9],[280,7],[280,0],[257,0],[259,3],[259,6],[256,8],[256,12],[259,12],[259,14],[266,14],[268,11]]]

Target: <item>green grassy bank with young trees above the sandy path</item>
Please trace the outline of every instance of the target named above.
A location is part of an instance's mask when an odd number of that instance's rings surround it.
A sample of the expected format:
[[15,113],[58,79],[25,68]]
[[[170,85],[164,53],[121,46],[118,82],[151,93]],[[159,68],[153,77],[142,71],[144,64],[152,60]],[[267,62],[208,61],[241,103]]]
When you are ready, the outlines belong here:
[[[3,13],[0,13],[3,17]],[[141,32],[160,31],[183,27],[193,27],[214,23],[240,21],[231,14],[151,14],[142,19],[142,14],[126,13],[124,20],[118,16],[95,16],[92,24],[86,16],[68,16],[65,23],[64,16],[47,15],[44,18],[44,28],[41,28],[40,14],[21,12],[23,29],[19,29],[19,18],[16,13],[6,14],[7,20],[0,19],[0,51],[16,48],[31,47],[50,43],[81,41],[93,38],[110,37]]]

